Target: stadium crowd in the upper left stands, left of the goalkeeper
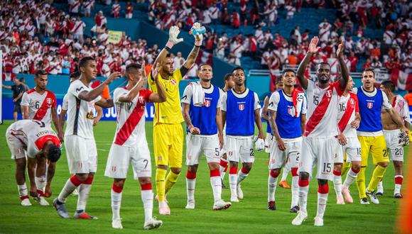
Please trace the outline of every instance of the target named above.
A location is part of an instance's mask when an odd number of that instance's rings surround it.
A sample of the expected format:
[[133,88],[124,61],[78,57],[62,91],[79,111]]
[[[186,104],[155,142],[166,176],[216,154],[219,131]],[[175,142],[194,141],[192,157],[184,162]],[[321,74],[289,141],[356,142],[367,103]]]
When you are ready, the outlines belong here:
[[[107,18],[102,11],[94,16],[92,38],[85,37],[86,24],[80,14],[90,16],[94,1],[82,1],[82,4],[70,1],[69,4],[70,14],[35,1],[0,3],[3,79],[12,80],[21,73],[34,74],[38,69],[48,74],[68,75],[77,70],[78,62],[85,56],[98,57],[97,73],[104,77],[111,72],[124,72],[126,65],[141,63],[143,59],[146,69],[151,69],[154,57],[160,52],[157,45],[148,48],[146,40],[131,40],[128,35],[123,35],[119,43],[109,43]],[[116,7],[113,9],[113,16],[118,17]],[[127,17],[132,17],[129,12]],[[175,64],[183,62],[178,53]],[[188,75],[195,76],[195,73],[190,71]]]

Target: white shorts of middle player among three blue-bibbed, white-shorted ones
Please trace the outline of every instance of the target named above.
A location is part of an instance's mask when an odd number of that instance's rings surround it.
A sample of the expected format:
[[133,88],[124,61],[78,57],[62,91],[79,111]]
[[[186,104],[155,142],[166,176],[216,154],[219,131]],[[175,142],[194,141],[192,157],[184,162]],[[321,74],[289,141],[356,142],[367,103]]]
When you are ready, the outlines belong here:
[[226,140],[228,161],[254,162],[253,135],[241,138],[228,135]]

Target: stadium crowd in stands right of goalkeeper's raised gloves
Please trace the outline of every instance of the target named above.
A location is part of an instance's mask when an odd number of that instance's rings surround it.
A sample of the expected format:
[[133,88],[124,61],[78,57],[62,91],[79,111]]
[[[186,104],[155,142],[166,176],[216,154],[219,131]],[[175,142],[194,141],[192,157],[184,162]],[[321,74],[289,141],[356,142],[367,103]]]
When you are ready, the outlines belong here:
[[[172,25],[188,30],[195,21],[205,25],[229,25],[239,28],[241,25],[255,26],[254,35],[242,34],[228,38],[225,32],[207,32],[205,49],[223,60],[241,65],[240,57],[251,56],[261,60],[262,68],[269,68],[272,74],[278,74],[283,66],[294,67],[303,59],[308,46],[309,33],[320,36],[322,50],[311,61],[314,69],[319,62],[333,64],[337,73],[337,60],[333,56],[335,48],[342,38],[345,44],[345,60],[351,72],[357,71],[359,57],[366,60],[362,68],[386,67],[389,72],[401,69],[411,72],[411,7],[407,1],[331,1],[331,7],[337,11],[335,22],[319,24],[318,32],[301,30],[298,26],[290,35],[279,35],[265,26],[279,22],[278,11],[286,11],[286,20],[291,20],[302,7],[322,8],[325,1],[258,1],[241,0],[239,8],[229,12],[227,1],[151,1],[149,20],[157,28],[168,29]],[[385,28],[382,40],[364,35],[367,27]],[[267,28],[267,27],[266,27]],[[288,37],[288,38],[287,38]],[[259,56],[261,55],[261,56]]]

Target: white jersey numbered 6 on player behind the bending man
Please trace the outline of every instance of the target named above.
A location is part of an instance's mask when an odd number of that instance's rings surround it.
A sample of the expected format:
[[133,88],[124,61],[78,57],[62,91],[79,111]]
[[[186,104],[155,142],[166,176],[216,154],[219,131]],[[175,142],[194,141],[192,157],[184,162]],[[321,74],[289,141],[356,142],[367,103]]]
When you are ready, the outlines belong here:
[[21,106],[28,106],[28,119],[42,121],[50,126],[52,121],[51,109],[56,108],[56,96],[45,90],[43,94],[36,89],[30,89],[23,94]]

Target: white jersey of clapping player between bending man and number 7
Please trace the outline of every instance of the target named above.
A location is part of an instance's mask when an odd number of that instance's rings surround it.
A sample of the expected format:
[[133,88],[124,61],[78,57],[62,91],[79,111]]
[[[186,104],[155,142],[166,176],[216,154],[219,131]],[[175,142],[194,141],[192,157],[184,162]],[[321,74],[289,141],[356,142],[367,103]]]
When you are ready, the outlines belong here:
[[79,99],[82,91],[90,91],[80,79],[72,82],[67,90],[67,126],[65,136],[79,135],[82,138],[94,139],[93,120],[94,103],[102,99],[97,96],[93,101]]

